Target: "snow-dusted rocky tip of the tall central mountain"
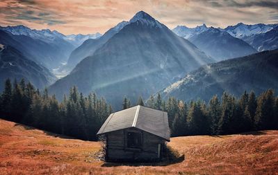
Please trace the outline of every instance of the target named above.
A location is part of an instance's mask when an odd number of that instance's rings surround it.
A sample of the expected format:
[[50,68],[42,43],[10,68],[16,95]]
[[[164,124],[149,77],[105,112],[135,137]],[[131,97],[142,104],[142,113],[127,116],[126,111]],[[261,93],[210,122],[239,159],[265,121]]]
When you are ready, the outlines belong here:
[[155,27],[155,28],[161,28],[162,25],[156,21],[151,15],[147,14],[147,12],[140,11],[137,12],[136,15],[134,15],[133,18],[129,21],[129,23],[135,23],[140,21],[141,24],[146,24],[147,26]]

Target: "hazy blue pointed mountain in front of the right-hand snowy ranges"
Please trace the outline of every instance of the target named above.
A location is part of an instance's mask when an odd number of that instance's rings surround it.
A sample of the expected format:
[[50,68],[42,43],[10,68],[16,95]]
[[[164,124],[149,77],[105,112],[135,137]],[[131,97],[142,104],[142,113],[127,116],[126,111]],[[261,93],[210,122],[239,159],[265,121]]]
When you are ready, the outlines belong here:
[[243,40],[213,27],[193,35],[188,40],[217,61],[256,53],[256,50]]

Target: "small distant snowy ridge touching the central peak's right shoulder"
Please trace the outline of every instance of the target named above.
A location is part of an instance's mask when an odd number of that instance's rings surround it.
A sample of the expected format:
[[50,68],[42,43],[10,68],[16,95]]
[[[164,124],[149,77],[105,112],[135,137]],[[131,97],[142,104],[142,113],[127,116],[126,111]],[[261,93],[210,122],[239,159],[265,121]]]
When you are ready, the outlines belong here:
[[177,26],[172,31],[179,35],[180,37],[184,37],[186,39],[193,37],[194,35],[198,35],[204,31],[208,30],[206,27],[206,24],[203,24],[202,26],[197,26],[195,28],[188,28],[186,26]]

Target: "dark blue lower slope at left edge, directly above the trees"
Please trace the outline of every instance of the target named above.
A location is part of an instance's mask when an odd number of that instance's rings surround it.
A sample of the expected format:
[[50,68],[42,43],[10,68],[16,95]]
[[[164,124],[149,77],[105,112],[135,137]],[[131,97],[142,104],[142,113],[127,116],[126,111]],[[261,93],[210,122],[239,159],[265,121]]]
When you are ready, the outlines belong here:
[[6,79],[21,80],[24,78],[36,88],[42,89],[56,81],[56,77],[47,68],[27,59],[19,50],[12,46],[0,44],[0,90]]

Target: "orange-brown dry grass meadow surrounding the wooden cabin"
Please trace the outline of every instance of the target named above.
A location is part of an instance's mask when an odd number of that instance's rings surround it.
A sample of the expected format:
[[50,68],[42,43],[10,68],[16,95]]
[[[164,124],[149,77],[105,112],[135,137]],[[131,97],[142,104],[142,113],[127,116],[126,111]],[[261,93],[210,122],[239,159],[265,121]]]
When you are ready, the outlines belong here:
[[[253,133],[254,134],[254,133]],[[0,174],[278,174],[278,131],[171,138],[181,163],[105,167],[99,142],[58,138],[0,120]]]

